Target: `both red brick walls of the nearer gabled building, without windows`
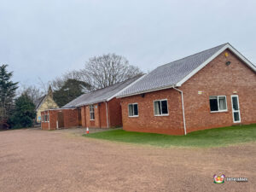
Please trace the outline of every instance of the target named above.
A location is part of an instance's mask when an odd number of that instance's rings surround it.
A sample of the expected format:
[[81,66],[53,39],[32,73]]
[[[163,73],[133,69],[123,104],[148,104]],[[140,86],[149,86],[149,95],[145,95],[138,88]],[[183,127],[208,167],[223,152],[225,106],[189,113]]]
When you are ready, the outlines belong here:
[[[226,52],[226,51],[224,51]],[[231,95],[238,95],[241,124],[256,123],[256,74],[235,55],[218,55],[179,89],[183,90],[187,132],[234,125]],[[226,66],[226,61],[231,61]],[[199,95],[198,91],[202,91]],[[228,112],[210,113],[209,96],[226,96]],[[168,99],[169,116],[154,117],[153,101]],[[139,117],[128,117],[128,104],[137,102]],[[123,127],[127,131],[183,134],[181,96],[177,90],[159,90],[121,99]]]

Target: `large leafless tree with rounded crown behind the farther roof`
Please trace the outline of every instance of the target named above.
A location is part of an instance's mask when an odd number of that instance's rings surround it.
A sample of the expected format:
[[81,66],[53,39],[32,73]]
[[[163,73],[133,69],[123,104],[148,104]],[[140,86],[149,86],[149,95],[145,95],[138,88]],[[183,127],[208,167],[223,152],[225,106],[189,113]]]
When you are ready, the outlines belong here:
[[84,81],[95,89],[101,89],[142,74],[142,71],[130,65],[124,56],[115,54],[90,58],[80,72]]

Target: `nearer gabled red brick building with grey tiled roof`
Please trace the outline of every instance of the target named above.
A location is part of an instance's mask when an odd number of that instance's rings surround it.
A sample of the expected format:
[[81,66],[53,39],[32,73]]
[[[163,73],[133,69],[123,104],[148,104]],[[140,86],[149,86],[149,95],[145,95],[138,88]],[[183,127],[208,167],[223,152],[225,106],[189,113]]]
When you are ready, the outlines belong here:
[[183,135],[256,123],[256,67],[230,44],[157,67],[121,91],[123,128]]

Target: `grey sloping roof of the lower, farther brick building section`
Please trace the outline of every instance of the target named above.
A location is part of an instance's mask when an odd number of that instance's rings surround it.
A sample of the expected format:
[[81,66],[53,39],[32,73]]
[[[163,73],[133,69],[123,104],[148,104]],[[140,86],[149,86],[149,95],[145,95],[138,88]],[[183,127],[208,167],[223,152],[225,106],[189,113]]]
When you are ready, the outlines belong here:
[[133,83],[137,79],[139,79],[141,75],[138,75],[132,79],[128,79],[124,82],[113,84],[111,86],[105,87],[103,89],[95,90],[90,93],[85,93],[82,96],[74,99],[72,102],[67,103],[62,108],[74,108],[80,107],[84,105],[90,105],[98,102],[106,102],[112,96],[119,93],[119,91],[125,89],[129,84]]

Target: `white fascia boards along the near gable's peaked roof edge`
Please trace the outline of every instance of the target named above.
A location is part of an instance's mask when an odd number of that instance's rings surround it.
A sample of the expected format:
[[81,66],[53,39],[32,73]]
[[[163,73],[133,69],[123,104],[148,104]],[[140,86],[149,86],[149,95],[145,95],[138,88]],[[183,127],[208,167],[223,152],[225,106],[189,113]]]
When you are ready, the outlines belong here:
[[220,55],[225,49],[230,49],[235,55],[237,55],[241,61],[244,61],[248,67],[251,67],[254,72],[256,72],[256,67],[252,62],[248,61],[246,57],[241,55],[235,48],[233,48],[230,44],[226,44],[222,49],[219,49],[214,55],[212,55],[207,61],[204,61],[199,67],[196,67],[191,73],[189,73],[185,78],[179,81],[176,85],[180,87],[183,83],[185,83],[188,79],[198,73],[203,67],[207,66],[209,62],[215,59],[218,55]]

